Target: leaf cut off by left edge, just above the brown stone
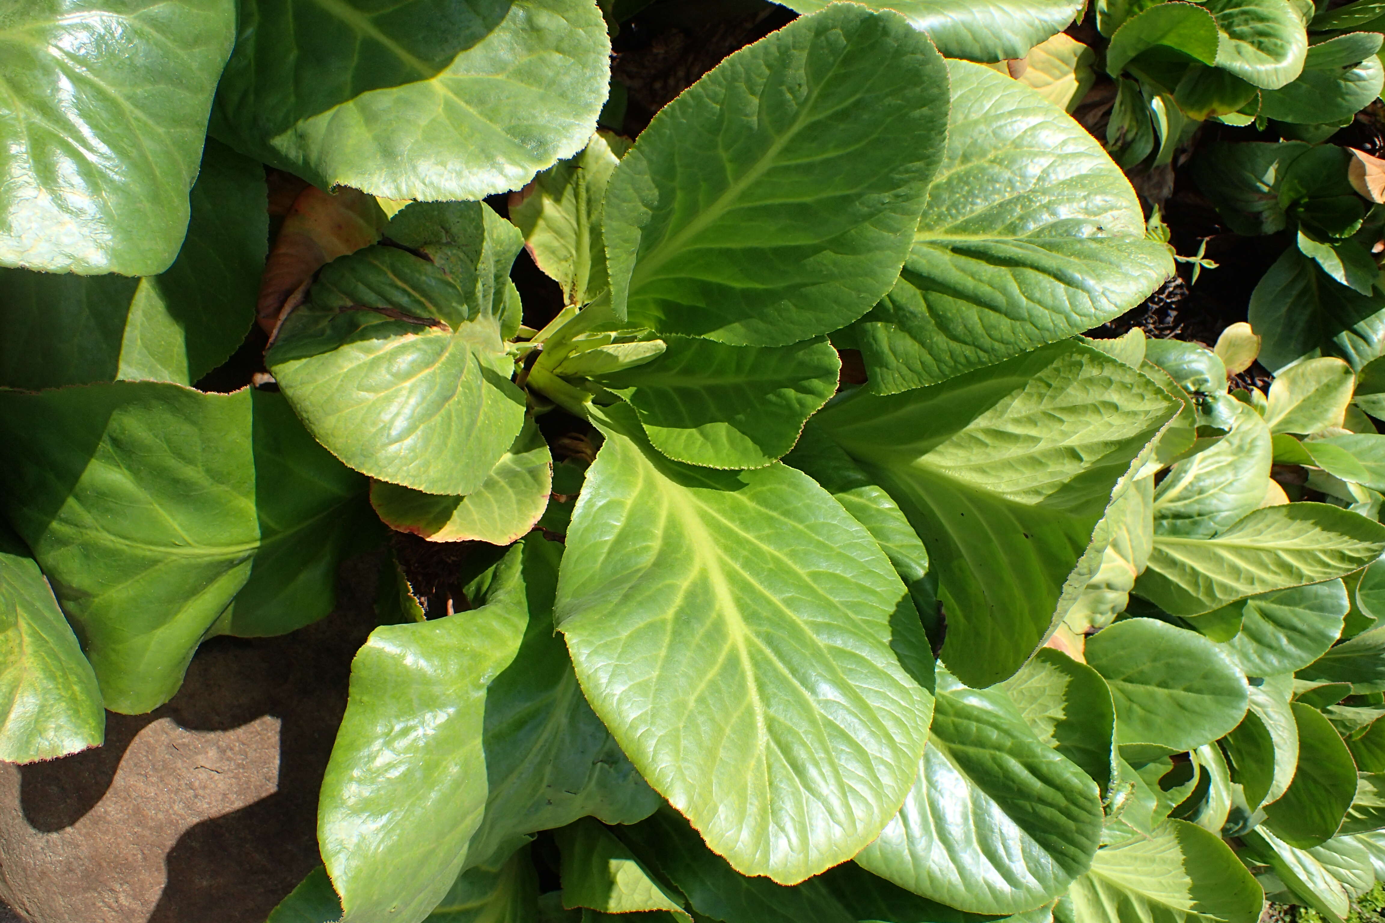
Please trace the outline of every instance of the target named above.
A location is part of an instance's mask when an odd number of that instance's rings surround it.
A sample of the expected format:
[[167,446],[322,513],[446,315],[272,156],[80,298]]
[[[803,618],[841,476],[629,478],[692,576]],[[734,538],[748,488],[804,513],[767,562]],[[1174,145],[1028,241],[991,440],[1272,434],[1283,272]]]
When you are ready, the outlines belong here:
[[91,664],[24,542],[0,522],[0,760],[35,762],[101,746]]

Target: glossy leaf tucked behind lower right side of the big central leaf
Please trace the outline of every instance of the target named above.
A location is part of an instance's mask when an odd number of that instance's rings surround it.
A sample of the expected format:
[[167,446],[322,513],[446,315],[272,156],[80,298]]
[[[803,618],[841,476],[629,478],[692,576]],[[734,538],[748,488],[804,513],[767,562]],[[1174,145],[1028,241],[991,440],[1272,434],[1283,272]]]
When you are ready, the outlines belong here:
[[942,675],[918,780],[856,862],[939,904],[1015,913],[1087,870],[1101,819],[1097,786],[1006,692]]

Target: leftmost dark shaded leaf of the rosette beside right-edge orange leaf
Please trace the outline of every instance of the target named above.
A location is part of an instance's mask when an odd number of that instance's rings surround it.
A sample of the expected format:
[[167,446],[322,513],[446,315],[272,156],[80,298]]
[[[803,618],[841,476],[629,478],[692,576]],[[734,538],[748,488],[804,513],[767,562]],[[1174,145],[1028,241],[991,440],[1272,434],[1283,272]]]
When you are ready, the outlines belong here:
[[1285,226],[1280,179],[1309,147],[1302,141],[1216,141],[1194,154],[1192,177],[1233,231],[1246,237],[1273,234]]

